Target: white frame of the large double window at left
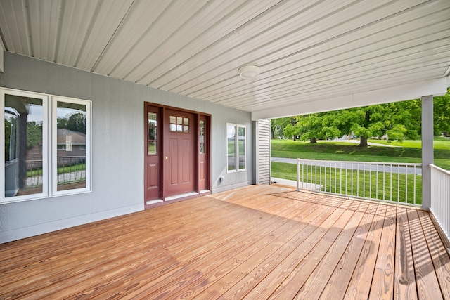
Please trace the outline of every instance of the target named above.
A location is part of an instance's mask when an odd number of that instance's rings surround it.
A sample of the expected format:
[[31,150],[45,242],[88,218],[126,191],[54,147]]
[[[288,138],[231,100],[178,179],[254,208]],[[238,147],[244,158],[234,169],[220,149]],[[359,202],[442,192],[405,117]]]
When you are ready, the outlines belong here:
[[[37,98],[42,100],[42,193],[22,195],[14,197],[5,197],[5,147],[4,138],[0,138],[0,204],[11,202],[22,202],[29,200],[37,200],[49,197],[57,197],[60,195],[72,195],[79,193],[89,193],[92,187],[91,178],[91,156],[92,156],[92,138],[91,138],[91,107],[90,100],[81,100],[75,98],[67,98],[61,96],[53,96],[44,93],[35,93],[30,91],[20,91],[16,89],[6,89],[0,87],[0,111],[4,114],[5,96],[22,96]],[[76,188],[72,190],[58,191],[57,189],[57,164],[56,157],[58,147],[56,143],[56,103],[58,101],[69,103],[80,103],[86,105],[86,188]],[[4,117],[0,118],[0,132],[4,133],[5,122]]]

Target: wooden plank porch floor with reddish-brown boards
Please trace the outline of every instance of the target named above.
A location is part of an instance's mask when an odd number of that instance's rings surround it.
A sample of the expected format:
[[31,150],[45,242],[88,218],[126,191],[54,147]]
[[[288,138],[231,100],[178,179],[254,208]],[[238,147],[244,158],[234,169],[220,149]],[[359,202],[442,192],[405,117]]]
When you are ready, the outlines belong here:
[[252,185],[0,244],[0,299],[450,299],[427,212]]

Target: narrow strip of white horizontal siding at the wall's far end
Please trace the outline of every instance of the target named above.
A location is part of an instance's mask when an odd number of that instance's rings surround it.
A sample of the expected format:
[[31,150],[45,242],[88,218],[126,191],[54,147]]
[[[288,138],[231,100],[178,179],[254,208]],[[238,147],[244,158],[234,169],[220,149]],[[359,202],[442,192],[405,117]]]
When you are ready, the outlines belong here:
[[257,184],[270,184],[270,120],[257,121]]

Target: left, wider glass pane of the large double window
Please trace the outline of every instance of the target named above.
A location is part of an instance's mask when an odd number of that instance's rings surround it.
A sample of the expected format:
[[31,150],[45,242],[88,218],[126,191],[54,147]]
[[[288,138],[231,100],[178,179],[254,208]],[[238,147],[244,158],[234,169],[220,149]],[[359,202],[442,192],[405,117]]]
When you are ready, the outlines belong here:
[[5,95],[5,197],[43,193],[43,103]]

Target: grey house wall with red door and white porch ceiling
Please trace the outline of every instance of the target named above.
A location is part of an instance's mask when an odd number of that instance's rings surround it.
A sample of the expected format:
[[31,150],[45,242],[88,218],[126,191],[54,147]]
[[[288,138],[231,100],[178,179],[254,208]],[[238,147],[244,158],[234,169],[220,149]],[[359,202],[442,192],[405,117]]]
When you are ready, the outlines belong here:
[[43,183],[1,192],[0,243],[269,183],[271,118],[446,92],[449,1],[338,2],[0,0],[0,103],[43,124]]

